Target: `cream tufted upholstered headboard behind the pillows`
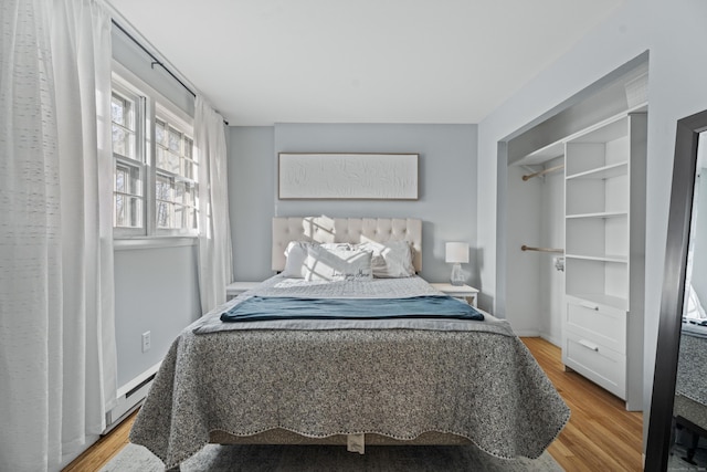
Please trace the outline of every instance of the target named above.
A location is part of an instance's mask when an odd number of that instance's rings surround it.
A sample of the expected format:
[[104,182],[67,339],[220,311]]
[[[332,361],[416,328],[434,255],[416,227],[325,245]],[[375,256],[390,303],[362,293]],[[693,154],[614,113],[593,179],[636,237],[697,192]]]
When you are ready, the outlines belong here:
[[285,269],[289,241],[350,242],[409,241],[414,249],[412,264],[422,270],[422,220],[412,218],[273,218],[273,271]]

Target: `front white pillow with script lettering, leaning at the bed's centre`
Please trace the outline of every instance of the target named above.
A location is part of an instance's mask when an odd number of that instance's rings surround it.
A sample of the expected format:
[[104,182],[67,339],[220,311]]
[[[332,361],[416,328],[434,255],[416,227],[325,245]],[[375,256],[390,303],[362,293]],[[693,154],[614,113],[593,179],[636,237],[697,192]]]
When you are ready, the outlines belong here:
[[304,271],[306,281],[371,280],[371,251],[327,249],[323,245],[307,248]]

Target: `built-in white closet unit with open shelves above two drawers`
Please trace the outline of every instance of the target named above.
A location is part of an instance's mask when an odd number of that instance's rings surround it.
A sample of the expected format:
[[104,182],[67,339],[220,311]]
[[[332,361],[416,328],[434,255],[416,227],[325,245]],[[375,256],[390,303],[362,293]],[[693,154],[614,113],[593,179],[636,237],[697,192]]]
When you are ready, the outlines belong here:
[[564,143],[564,365],[643,407],[646,115]]

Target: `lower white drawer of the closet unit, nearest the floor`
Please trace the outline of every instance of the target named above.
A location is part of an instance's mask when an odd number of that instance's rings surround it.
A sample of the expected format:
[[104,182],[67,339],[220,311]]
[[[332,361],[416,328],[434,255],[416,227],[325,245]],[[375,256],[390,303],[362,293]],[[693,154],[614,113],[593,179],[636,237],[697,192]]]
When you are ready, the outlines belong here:
[[626,356],[572,333],[564,334],[562,361],[621,399],[626,398]]

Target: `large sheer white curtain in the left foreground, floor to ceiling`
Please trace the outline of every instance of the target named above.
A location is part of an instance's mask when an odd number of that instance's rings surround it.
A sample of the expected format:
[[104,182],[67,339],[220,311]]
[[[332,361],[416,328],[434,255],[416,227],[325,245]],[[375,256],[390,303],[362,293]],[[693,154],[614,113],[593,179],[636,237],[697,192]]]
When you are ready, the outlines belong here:
[[110,18],[0,2],[0,470],[56,471],[115,403]]

